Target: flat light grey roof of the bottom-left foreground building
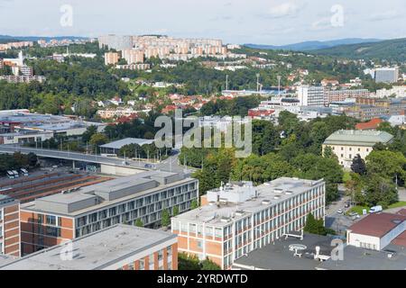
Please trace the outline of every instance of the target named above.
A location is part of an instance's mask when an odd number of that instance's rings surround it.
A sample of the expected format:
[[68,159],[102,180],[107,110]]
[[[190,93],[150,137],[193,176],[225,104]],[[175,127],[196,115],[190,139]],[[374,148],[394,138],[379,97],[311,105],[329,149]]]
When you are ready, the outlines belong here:
[[[66,245],[61,244],[27,257],[0,262],[1,270],[100,270],[132,257],[176,235],[155,229],[118,224],[72,241],[72,260],[62,260]],[[65,248],[65,249],[64,249]],[[10,260],[11,261],[11,260]]]

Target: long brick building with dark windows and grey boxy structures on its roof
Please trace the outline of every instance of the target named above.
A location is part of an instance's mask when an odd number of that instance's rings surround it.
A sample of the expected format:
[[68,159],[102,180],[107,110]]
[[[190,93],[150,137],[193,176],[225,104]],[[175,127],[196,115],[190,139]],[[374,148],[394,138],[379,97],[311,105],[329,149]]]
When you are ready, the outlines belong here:
[[119,223],[161,226],[163,210],[189,211],[198,202],[198,180],[150,171],[55,194],[22,206],[23,254],[86,236]]

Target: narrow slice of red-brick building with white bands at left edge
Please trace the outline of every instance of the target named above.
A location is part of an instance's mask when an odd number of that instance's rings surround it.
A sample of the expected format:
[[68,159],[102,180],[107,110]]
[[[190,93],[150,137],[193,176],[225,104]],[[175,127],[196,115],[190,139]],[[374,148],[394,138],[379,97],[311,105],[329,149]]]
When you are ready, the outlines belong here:
[[0,194],[0,255],[20,256],[20,203]]

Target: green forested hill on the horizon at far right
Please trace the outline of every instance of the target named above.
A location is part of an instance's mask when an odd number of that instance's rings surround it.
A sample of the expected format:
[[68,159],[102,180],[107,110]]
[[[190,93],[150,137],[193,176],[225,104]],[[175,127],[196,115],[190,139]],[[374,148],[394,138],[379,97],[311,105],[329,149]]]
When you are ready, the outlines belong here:
[[404,62],[406,61],[406,38],[342,45],[313,50],[311,53],[342,58],[385,59]]

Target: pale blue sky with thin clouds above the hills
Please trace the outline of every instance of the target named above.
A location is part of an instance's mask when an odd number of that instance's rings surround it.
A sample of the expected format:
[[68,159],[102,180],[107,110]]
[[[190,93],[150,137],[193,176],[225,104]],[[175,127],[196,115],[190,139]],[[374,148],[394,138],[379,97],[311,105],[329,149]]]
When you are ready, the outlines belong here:
[[0,0],[0,34],[165,34],[226,43],[406,37],[405,0]]

